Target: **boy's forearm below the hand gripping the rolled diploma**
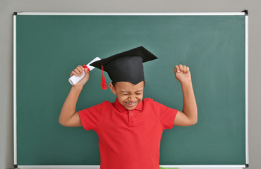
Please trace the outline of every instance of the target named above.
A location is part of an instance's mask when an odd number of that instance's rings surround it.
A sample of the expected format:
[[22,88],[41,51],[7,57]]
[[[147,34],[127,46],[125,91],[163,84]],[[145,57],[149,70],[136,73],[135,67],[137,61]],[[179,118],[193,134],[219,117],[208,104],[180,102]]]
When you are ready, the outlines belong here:
[[71,87],[71,90],[66,98],[66,101],[64,101],[63,107],[61,108],[59,123],[61,124],[66,123],[66,120],[71,118],[71,116],[75,113],[78,97],[82,89],[83,89],[82,86],[73,85]]

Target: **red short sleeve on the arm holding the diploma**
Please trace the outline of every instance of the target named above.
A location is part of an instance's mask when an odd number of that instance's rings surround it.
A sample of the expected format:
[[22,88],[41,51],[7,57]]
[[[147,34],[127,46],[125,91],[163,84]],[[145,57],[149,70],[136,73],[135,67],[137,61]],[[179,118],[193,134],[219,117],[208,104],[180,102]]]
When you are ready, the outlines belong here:
[[95,130],[99,125],[99,120],[102,117],[102,104],[97,104],[90,108],[78,111],[80,121],[85,130]]

